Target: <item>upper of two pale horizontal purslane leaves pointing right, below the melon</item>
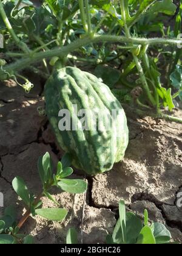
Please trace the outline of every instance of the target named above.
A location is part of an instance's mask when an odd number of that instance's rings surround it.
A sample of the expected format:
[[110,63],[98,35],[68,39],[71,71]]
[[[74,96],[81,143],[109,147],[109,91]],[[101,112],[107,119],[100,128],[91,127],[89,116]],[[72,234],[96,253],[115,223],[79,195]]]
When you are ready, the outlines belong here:
[[58,187],[63,191],[67,191],[72,194],[81,194],[87,190],[87,182],[84,180],[67,180],[62,179],[58,182]]

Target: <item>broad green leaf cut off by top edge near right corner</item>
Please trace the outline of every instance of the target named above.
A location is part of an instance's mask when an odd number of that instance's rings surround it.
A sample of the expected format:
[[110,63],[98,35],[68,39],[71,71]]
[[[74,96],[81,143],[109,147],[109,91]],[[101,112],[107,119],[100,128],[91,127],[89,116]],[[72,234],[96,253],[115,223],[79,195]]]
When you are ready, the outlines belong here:
[[163,0],[163,1],[157,1],[155,4],[153,4],[149,12],[150,13],[164,13],[167,15],[175,15],[176,12],[176,5],[172,2],[172,0]]

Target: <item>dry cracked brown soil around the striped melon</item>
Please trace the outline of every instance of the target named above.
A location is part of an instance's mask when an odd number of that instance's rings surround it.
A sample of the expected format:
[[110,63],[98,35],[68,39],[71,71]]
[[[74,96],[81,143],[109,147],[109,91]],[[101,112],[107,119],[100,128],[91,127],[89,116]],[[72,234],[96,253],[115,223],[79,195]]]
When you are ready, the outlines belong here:
[[[46,151],[56,163],[62,156],[55,143],[49,123],[38,113],[44,107],[42,81],[34,77],[36,87],[30,94],[12,81],[0,86],[0,192],[4,193],[4,207],[16,205],[18,218],[25,212],[22,202],[12,189],[12,180],[21,176],[33,193],[38,194],[41,183],[37,160]],[[150,221],[160,221],[172,233],[174,241],[182,243],[182,208],[177,194],[182,192],[182,130],[181,124],[150,117],[136,118],[126,109],[130,142],[124,161],[112,171],[87,177],[84,243],[104,243],[118,218],[118,201],[124,199],[127,210],[143,215],[149,211]],[[182,117],[181,110],[174,115]],[[75,170],[74,177],[84,178]],[[23,233],[35,236],[35,243],[65,243],[69,227],[76,227],[80,237],[83,194],[52,191],[61,207],[69,210],[64,222],[30,217],[22,227]],[[56,206],[42,199],[44,207]],[[4,208],[0,207],[0,215]]]

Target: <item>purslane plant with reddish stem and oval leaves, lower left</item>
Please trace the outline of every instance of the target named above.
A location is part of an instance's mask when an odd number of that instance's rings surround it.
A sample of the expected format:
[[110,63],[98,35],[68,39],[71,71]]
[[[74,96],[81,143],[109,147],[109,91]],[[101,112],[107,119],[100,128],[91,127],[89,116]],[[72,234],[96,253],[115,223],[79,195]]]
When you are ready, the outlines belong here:
[[67,179],[73,173],[73,169],[69,167],[71,161],[69,154],[65,154],[61,162],[58,162],[56,173],[54,174],[49,153],[47,152],[43,157],[39,157],[38,171],[42,182],[42,191],[37,197],[29,191],[21,177],[13,179],[13,189],[24,202],[27,212],[17,223],[15,208],[11,206],[5,209],[4,216],[0,218],[0,244],[33,243],[32,236],[25,236],[19,233],[19,230],[30,215],[39,215],[51,221],[63,221],[66,218],[67,210],[64,208],[41,208],[41,197],[45,196],[59,206],[60,204],[50,194],[52,187],[56,186],[61,191],[67,191],[72,194],[84,193],[87,190],[86,181]]

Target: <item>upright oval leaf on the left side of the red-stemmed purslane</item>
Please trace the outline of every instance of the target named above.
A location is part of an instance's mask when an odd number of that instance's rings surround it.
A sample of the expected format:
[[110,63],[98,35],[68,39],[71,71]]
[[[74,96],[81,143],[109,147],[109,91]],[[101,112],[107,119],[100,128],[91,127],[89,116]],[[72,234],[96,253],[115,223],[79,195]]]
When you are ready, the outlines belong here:
[[29,190],[27,188],[27,186],[25,185],[24,180],[21,177],[15,177],[15,179],[13,179],[12,182],[13,188],[16,192],[16,194],[18,194],[19,197],[21,197],[22,201],[24,201],[24,203],[29,206],[30,205],[30,193]]

